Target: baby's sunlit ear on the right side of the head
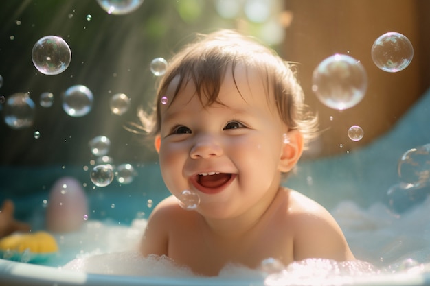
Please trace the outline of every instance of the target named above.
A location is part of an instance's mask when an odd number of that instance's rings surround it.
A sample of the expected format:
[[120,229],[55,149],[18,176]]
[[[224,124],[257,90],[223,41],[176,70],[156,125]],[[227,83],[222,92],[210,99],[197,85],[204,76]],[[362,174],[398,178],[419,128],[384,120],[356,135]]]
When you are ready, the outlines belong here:
[[279,171],[286,173],[297,164],[303,152],[303,135],[299,130],[290,130],[284,134]]

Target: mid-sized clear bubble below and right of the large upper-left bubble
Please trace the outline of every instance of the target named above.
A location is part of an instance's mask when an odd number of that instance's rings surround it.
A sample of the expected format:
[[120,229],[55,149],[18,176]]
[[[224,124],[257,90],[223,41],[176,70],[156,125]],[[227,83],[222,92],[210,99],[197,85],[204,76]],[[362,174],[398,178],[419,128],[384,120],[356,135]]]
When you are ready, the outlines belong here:
[[72,117],[87,115],[92,106],[93,93],[87,86],[71,86],[63,93],[63,109]]

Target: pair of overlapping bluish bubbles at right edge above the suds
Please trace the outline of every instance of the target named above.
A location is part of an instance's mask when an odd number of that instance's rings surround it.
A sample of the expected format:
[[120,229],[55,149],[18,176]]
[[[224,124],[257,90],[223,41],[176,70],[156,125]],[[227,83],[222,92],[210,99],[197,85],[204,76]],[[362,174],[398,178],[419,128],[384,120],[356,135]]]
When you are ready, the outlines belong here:
[[387,196],[392,209],[401,212],[430,193],[430,144],[407,150],[398,160],[397,171],[400,183],[390,187]]

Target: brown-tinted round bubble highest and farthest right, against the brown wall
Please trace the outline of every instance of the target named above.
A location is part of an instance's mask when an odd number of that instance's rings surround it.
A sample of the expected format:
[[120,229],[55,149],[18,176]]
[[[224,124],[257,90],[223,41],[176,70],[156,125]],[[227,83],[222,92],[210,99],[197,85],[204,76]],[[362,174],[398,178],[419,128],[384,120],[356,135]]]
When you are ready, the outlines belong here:
[[389,32],[374,41],[371,53],[376,67],[396,73],[409,66],[414,58],[414,47],[402,34]]

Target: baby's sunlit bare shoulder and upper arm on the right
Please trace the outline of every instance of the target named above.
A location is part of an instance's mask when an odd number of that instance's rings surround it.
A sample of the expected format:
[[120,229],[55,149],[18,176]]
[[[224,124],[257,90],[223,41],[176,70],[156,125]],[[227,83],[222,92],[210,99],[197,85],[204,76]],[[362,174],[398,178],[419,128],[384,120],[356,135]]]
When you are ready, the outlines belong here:
[[[301,196],[301,195],[300,195]],[[294,236],[294,260],[307,258],[334,259],[347,261],[354,259],[341,228],[328,211],[308,199],[297,216]],[[300,198],[302,201],[303,198]],[[306,201],[306,200],[305,200]]]

